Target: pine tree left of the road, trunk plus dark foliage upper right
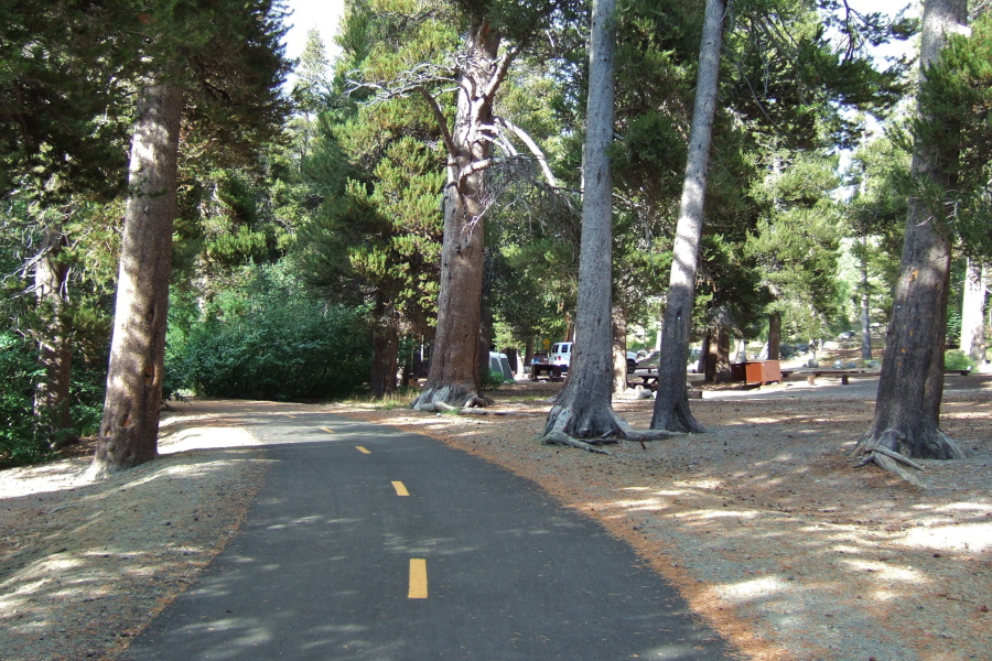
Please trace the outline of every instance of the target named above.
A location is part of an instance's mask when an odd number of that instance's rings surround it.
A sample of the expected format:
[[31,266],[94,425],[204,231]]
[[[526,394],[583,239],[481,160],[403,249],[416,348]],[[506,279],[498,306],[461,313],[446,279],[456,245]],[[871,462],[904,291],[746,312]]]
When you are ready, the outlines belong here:
[[284,116],[281,14],[269,0],[168,2],[141,15],[149,68],[139,82],[94,477],[158,454],[181,123],[191,144],[209,144],[223,164],[250,158]]

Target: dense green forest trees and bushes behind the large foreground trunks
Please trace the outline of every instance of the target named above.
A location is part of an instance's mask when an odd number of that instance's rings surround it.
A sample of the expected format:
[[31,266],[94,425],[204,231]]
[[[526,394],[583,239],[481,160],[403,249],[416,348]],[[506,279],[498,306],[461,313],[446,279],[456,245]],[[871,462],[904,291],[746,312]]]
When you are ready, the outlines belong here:
[[[225,25],[216,17],[230,7],[194,4],[213,21],[174,13],[169,26],[195,36],[169,51],[170,61],[188,57],[191,69],[209,75],[190,83],[203,96],[187,96],[196,100],[186,101],[180,131],[166,395],[396,392],[423,373],[440,279],[444,136],[418,97],[450,100],[466,17],[493,4],[509,25],[514,4],[348,2],[339,52],[330,55],[310,32],[285,86],[281,7],[241,8],[262,32],[250,21],[228,32],[247,34],[268,57],[235,59],[208,47]],[[165,24],[127,2],[94,7]],[[776,324],[785,343],[802,346],[884,328],[912,186],[910,63],[891,55],[873,68],[869,45],[912,43],[914,21],[852,13],[842,2],[732,7],[693,312],[693,337],[715,347],[714,378],[733,337],[765,339]],[[7,40],[23,44],[4,54],[21,68],[0,80],[3,465],[46,458],[95,434],[104,416],[133,99],[150,76],[129,63],[136,52],[164,59],[159,46],[174,34],[145,30],[132,44],[95,28],[91,7],[78,9],[9,17],[6,28],[30,39]],[[981,10],[975,48],[989,39]],[[497,158],[485,174],[479,342],[515,348],[525,362],[544,340],[570,337],[576,305],[587,7],[561,2],[548,15],[540,37],[505,28],[521,47],[496,107],[519,132],[510,131],[516,141],[494,138]],[[621,354],[656,343],[701,21],[702,3],[630,0],[618,13],[611,155]],[[988,113],[990,74],[972,73],[969,112]],[[28,87],[34,107],[11,94],[24,82],[36,83]],[[282,91],[288,98],[277,98]],[[455,110],[433,108],[449,119]],[[867,130],[876,121],[884,131]],[[972,178],[983,186],[962,202],[973,213],[955,228],[947,311],[947,345],[963,349],[948,365],[962,367],[984,360],[989,324],[988,128],[971,128]]]

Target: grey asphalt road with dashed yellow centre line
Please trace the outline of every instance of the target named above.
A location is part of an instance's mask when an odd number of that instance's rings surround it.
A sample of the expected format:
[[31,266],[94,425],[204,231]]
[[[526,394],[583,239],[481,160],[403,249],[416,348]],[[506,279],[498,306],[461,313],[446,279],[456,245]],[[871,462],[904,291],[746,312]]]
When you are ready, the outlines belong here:
[[259,414],[240,533],[120,657],[729,659],[676,590],[530,483],[424,436]]

